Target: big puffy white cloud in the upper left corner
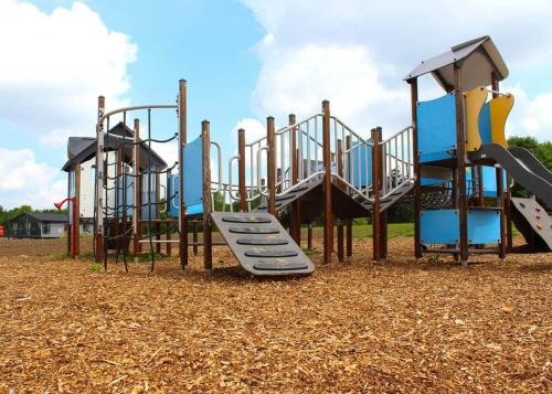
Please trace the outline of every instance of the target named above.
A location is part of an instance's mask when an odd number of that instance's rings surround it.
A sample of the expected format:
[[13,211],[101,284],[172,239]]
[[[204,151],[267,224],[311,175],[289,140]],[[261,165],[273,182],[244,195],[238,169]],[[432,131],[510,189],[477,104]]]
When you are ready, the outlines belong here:
[[62,147],[68,135],[92,135],[98,95],[108,107],[128,102],[137,47],[88,6],[45,13],[0,0],[0,118],[40,141]]

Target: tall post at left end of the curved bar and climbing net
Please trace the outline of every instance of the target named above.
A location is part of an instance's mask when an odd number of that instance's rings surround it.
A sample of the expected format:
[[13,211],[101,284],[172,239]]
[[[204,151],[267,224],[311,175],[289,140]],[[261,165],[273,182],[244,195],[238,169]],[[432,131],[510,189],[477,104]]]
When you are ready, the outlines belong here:
[[96,125],[96,199],[95,199],[95,210],[96,210],[96,228],[95,234],[95,248],[94,257],[96,262],[102,262],[104,253],[104,125],[100,121],[105,114],[105,97],[98,97],[98,113],[97,113],[97,125]]

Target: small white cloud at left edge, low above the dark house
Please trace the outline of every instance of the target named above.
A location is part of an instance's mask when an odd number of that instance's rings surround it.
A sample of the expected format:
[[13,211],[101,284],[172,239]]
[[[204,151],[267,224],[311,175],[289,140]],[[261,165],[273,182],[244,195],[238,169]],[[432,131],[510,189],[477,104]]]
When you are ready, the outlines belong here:
[[53,207],[67,194],[66,178],[59,169],[38,162],[31,149],[0,148],[0,204],[7,209],[30,204]]

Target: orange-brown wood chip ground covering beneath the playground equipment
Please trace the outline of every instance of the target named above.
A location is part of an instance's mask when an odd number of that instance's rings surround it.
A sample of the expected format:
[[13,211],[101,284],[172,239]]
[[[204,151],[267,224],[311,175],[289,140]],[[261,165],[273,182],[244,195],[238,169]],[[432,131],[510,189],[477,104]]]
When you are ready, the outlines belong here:
[[212,276],[201,249],[151,275],[60,262],[57,244],[0,257],[0,392],[550,391],[550,254],[416,265],[394,238],[374,265],[355,239],[352,264],[321,266],[315,238],[311,276],[267,280],[227,248]]

